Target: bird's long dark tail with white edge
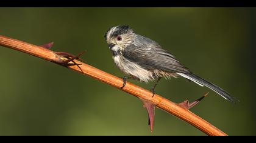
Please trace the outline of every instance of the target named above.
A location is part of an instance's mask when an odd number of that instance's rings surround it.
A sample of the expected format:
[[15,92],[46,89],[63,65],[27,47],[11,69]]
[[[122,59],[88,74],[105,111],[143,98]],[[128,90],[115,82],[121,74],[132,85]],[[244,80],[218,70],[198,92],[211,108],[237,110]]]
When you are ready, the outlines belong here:
[[230,95],[229,93],[224,91],[222,88],[218,87],[215,84],[212,84],[211,82],[206,81],[205,79],[200,78],[197,75],[185,74],[185,73],[177,73],[177,74],[180,75],[180,76],[183,76],[184,78],[190,79],[191,81],[195,82],[196,84],[201,85],[202,87],[205,86],[205,87],[210,88],[211,90],[215,91],[220,96],[227,99],[228,101],[239,102],[238,99],[236,99],[235,97],[233,97],[232,95]]

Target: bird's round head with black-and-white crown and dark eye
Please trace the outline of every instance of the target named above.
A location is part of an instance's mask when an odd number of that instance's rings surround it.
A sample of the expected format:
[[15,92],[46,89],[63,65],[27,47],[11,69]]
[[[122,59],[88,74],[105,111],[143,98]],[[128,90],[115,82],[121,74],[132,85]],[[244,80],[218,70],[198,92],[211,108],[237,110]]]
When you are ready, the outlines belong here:
[[135,33],[129,26],[122,25],[110,28],[105,34],[110,50],[123,50],[126,45],[131,44]]

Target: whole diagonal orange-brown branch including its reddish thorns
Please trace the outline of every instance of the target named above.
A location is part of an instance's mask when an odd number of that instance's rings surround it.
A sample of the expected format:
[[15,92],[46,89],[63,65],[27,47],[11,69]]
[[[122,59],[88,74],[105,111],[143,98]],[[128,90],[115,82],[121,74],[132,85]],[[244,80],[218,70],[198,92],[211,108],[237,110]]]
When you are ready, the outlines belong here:
[[91,65],[77,61],[76,59],[80,59],[79,56],[74,56],[65,52],[53,52],[52,50],[49,50],[52,44],[53,43],[37,46],[0,35],[0,45],[4,47],[9,47],[14,50],[18,50],[20,52],[37,56],[38,58],[42,58],[56,64],[63,65],[67,68],[70,68],[71,70],[82,73],[83,75],[91,76],[91,78],[98,79],[99,81],[105,82],[109,85],[112,85],[113,87],[118,88],[119,90],[130,93],[130,95],[137,96],[143,101],[144,107],[146,107],[148,110],[151,131],[154,127],[154,108],[156,106],[162,110],[167,111],[168,113],[171,113],[177,118],[188,122],[207,135],[226,136],[226,133],[222,132],[209,122],[205,121],[197,115],[194,115],[194,113],[188,110],[189,108],[196,105],[199,101],[201,101],[204,96],[192,102],[191,104],[187,100],[180,104],[176,104],[157,94],[155,94],[154,98],[152,98],[151,91],[138,87],[137,85],[131,84],[130,82],[127,82],[126,86],[121,88],[123,86],[123,79],[106,73],[105,71],[99,70],[98,68],[95,68]]

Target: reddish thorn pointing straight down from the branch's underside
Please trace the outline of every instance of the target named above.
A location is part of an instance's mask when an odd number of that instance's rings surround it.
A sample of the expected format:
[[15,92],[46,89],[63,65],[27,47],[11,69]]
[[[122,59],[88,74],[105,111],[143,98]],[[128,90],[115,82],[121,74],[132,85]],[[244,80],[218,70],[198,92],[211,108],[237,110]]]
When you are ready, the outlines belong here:
[[148,125],[151,126],[151,132],[154,130],[154,118],[155,118],[155,104],[151,101],[141,99],[143,101],[143,107],[148,111]]

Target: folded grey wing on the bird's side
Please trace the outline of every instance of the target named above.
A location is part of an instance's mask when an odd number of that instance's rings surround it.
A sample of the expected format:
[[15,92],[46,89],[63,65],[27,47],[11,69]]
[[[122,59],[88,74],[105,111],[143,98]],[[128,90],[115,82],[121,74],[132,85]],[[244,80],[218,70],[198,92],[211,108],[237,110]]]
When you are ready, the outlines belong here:
[[174,73],[191,73],[175,57],[149,38],[139,36],[135,44],[128,45],[122,52],[124,58],[148,70],[162,70]]

